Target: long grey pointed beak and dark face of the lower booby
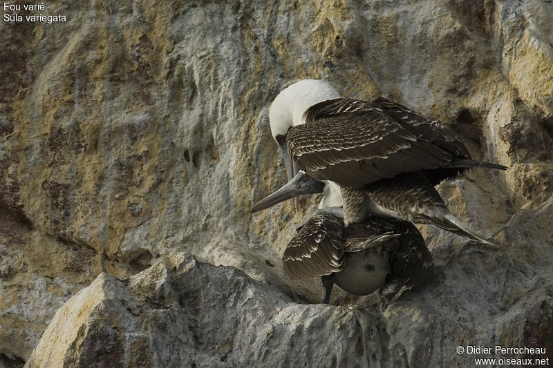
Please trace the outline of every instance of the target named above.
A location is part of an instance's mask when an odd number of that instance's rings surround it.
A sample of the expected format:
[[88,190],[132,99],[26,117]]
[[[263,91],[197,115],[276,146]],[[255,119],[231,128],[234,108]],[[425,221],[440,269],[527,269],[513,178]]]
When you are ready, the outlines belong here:
[[321,193],[324,185],[324,182],[311,179],[304,171],[299,171],[290,182],[284,184],[278,191],[254,204],[250,213],[268,209],[277,203],[297,197],[298,195]]

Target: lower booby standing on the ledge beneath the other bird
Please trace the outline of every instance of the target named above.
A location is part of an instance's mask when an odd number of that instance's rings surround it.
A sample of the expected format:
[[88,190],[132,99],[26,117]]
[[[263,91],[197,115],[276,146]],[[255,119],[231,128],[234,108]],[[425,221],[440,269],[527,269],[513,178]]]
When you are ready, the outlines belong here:
[[[310,193],[315,183],[300,180],[292,188]],[[359,296],[379,290],[382,309],[402,287],[424,286],[431,280],[432,255],[413,224],[369,216],[344,226],[339,188],[326,182],[324,193],[317,213],[300,226],[284,251],[288,277],[321,277],[323,303],[330,301],[334,284]]]

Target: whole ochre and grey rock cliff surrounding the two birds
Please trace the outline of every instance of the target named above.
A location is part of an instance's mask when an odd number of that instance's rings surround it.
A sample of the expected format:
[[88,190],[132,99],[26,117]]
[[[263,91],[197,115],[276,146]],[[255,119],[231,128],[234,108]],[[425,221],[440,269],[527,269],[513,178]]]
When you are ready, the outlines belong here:
[[[0,23],[0,365],[472,364],[458,345],[553,361],[553,3],[46,6],[67,21]],[[280,258],[317,199],[248,211],[285,182],[270,101],[305,77],[438,117],[509,166],[438,187],[501,249],[423,226],[428,287],[386,313],[301,304],[319,281]]]

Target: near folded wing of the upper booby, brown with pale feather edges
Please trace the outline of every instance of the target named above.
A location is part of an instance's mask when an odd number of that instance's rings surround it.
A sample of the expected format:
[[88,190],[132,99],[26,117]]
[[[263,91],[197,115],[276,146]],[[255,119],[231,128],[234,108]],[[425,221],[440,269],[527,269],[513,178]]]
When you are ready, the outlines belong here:
[[288,130],[288,151],[310,177],[343,186],[447,166],[453,154],[411,133],[377,106],[332,99],[306,110]]

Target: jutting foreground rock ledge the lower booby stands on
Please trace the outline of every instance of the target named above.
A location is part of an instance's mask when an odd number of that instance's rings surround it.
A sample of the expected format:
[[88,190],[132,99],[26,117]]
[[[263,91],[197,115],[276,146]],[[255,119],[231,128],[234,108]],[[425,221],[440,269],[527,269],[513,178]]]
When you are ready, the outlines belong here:
[[[355,304],[304,304],[234,267],[176,253],[126,280],[100,274],[57,311],[26,367],[421,367],[442,362],[444,347],[548,347],[543,326],[553,322],[553,306],[544,271],[525,284],[525,296],[494,295],[500,281],[492,278],[465,285],[470,298],[449,294],[453,275],[486,257],[477,255],[462,254],[440,280],[404,293],[383,315]],[[491,302],[509,298],[517,300],[507,309]],[[454,350],[447,359],[470,361]]]

